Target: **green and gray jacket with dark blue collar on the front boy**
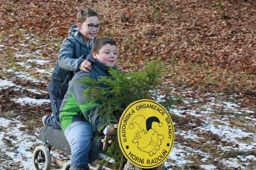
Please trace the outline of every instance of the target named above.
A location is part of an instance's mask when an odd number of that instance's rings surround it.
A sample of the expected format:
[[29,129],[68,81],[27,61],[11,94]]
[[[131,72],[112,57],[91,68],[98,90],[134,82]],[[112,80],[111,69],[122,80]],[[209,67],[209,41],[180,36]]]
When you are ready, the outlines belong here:
[[[97,106],[100,103],[87,103],[86,99],[82,96],[84,89],[88,87],[88,84],[81,83],[84,76],[92,77],[96,81],[99,76],[110,76],[108,73],[108,66],[102,64],[99,60],[94,60],[92,64],[92,70],[89,73],[84,71],[77,72],[71,81],[68,83],[68,91],[64,96],[64,99],[60,107],[60,122],[62,131],[77,120],[81,119],[80,112],[88,122],[92,124],[94,128],[100,131],[102,127],[106,126],[107,121],[101,120],[98,113]],[[113,67],[114,68],[114,67]],[[107,85],[102,84],[101,87],[107,88]],[[93,114],[91,114],[93,112]]]

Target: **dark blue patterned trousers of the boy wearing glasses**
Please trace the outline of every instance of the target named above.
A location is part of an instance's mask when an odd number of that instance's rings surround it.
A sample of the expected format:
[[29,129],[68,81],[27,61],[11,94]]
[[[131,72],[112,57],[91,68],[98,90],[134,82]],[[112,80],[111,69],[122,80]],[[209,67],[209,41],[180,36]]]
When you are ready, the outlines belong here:
[[58,117],[60,115],[60,106],[61,106],[62,100],[57,96],[54,96],[52,93],[50,93],[50,100],[51,100],[53,116],[47,117],[46,124],[56,129],[61,129],[61,125],[60,125],[60,122],[58,121]]

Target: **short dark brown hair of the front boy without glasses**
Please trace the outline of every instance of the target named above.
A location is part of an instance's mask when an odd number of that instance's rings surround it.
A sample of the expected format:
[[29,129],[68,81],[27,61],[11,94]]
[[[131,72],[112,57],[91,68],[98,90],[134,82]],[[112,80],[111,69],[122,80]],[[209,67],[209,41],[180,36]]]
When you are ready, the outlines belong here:
[[116,46],[116,42],[109,37],[100,37],[93,41],[91,52],[99,53],[100,48],[106,44],[110,44],[111,46]]

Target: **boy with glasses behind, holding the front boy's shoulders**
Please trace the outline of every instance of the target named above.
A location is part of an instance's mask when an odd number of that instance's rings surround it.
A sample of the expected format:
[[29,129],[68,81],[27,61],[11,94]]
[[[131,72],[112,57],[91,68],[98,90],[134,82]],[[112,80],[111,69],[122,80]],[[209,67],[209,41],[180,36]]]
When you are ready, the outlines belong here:
[[53,116],[46,115],[42,118],[44,125],[57,129],[61,129],[58,121],[59,110],[68,89],[68,82],[75,72],[83,70],[88,73],[91,70],[91,62],[88,61],[90,58],[86,56],[91,53],[92,43],[101,28],[98,14],[90,7],[79,7],[76,19],[77,24],[71,25],[68,38],[64,39],[60,46],[58,61],[48,87]]

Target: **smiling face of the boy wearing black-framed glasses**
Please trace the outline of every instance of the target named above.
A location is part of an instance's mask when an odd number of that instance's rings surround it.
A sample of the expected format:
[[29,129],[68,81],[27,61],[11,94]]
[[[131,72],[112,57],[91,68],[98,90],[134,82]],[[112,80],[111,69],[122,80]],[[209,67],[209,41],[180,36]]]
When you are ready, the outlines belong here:
[[92,16],[86,18],[86,20],[83,23],[77,23],[77,27],[79,31],[81,32],[84,41],[89,44],[91,39],[94,39],[99,30],[96,30],[94,27],[92,30],[88,28],[88,24],[92,25],[99,25],[99,18],[97,16]]

